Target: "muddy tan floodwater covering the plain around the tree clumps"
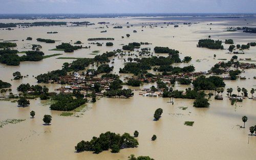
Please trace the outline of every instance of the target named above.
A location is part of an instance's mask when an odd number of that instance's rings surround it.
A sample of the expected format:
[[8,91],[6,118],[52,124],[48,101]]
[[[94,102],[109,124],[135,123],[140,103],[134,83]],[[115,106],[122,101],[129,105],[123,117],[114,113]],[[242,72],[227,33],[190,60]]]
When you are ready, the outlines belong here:
[[[12,84],[13,93],[16,87],[21,83],[37,84],[33,76],[41,73],[53,71],[61,68],[62,63],[72,62],[72,59],[56,59],[57,57],[94,57],[93,51],[99,50],[102,54],[106,51],[121,49],[122,45],[129,42],[149,42],[153,51],[155,46],[169,47],[179,50],[185,56],[191,56],[193,59],[188,64],[175,64],[184,66],[193,64],[196,71],[206,71],[221,60],[218,58],[230,59],[233,55],[226,54],[228,50],[209,50],[197,48],[199,39],[233,39],[234,45],[255,42],[255,34],[237,32],[224,32],[226,27],[255,26],[256,18],[207,18],[193,19],[185,18],[87,18],[87,19],[61,19],[54,21],[90,21],[96,25],[88,27],[31,27],[15,28],[12,31],[0,30],[0,39],[18,40],[17,49],[19,51],[28,51],[31,44],[42,45],[41,51],[45,55],[62,53],[63,55],[50,57],[39,62],[21,62],[19,66],[7,66],[0,64],[0,79]],[[37,19],[33,21],[46,21],[48,19]],[[31,20],[1,19],[1,22],[27,22]],[[48,20],[53,21],[53,20]],[[97,22],[106,21],[109,28],[105,25],[98,25]],[[178,28],[166,25],[157,25],[150,28],[144,23],[156,22],[200,22],[199,24],[187,25],[179,24]],[[134,27],[126,28],[126,22]],[[212,23],[212,25],[209,25]],[[248,23],[248,24],[247,24]],[[115,25],[112,25],[115,24]],[[207,25],[208,24],[208,25]],[[231,26],[228,26],[231,24]],[[113,29],[113,26],[123,26],[122,29]],[[141,28],[141,25],[146,28]],[[99,29],[104,27],[104,29]],[[164,28],[160,28],[164,27]],[[166,27],[166,28],[165,28]],[[211,28],[211,30],[210,30]],[[100,31],[106,30],[106,33]],[[133,33],[136,30],[137,33]],[[143,31],[141,31],[143,30]],[[47,34],[47,32],[57,31],[58,34]],[[131,34],[126,38],[126,34]],[[121,38],[124,36],[125,38]],[[27,37],[32,37],[32,41],[27,41]],[[88,38],[113,37],[113,47],[97,47],[94,44],[88,44]],[[49,44],[37,42],[36,38],[49,38],[60,40]],[[24,41],[22,41],[24,39]],[[72,41],[71,41],[72,40]],[[91,49],[81,49],[74,53],[64,53],[63,51],[49,51],[55,48],[55,45],[61,42],[71,42],[80,40],[83,46],[91,45]],[[102,41],[108,42],[108,41]],[[223,44],[228,48],[228,44]],[[216,59],[213,58],[217,55]],[[154,54],[156,55],[156,54]],[[159,54],[158,54],[159,55]],[[124,56],[127,58],[129,56]],[[251,58],[256,60],[256,47],[251,47],[245,51],[245,54],[238,55],[239,58]],[[119,68],[123,66],[124,61],[114,58],[115,63],[113,73],[118,73]],[[200,59],[200,62],[196,60]],[[253,62],[251,62],[253,63]],[[10,81],[12,73],[19,71],[22,75],[29,75],[23,80]],[[123,75],[122,77],[127,76]],[[241,76],[246,76],[246,80],[225,81],[226,88],[232,87],[233,93],[237,94],[237,86],[245,87],[248,90],[256,88],[256,72],[253,69],[245,70]],[[40,84],[46,85],[46,84]],[[150,87],[152,84],[145,84],[141,87],[132,87],[139,89]],[[57,84],[47,84],[50,91],[60,87]],[[124,86],[127,87],[127,86]],[[190,85],[176,84],[175,89],[185,89]],[[226,89],[225,89],[226,90]],[[223,93],[225,95],[225,92]],[[251,94],[249,94],[250,96]],[[155,159],[255,159],[256,156],[256,136],[248,136],[249,127],[256,125],[256,101],[245,99],[231,105],[228,98],[223,101],[210,100],[209,108],[193,107],[193,100],[175,99],[174,105],[167,103],[168,98],[150,98],[139,96],[135,91],[135,96],[130,99],[109,99],[100,98],[96,103],[88,103],[84,112],[79,112],[78,117],[59,116],[61,111],[51,111],[45,101],[30,100],[29,107],[17,107],[16,103],[10,101],[0,101],[0,121],[6,119],[26,119],[18,124],[9,124],[0,128],[0,159],[127,159],[130,154],[149,155]],[[188,107],[182,110],[180,107]],[[159,121],[153,121],[154,111],[161,107],[163,109],[162,118]],[[29,112],[36,112],[35,118],[30,119]],[[42,117],[46,114],[52,115],[52,124],[44,126]],[[77,114],[77,113],[76,113]],[[248,121],[245,129],[240,128],[243,125],[242,117],[247,116]],[[185,121],[195,121],[194,126],[185,126]],[[98,136],[102,132],[111,131],[122,134],[129,132],[133,134],[135,130],[139,131],[139,147],[122,149],[119,153],[103,151],[100,154],[92,152],[76,153],[74,146],[81,140],[91,140],[93,136]],[[153,134],[157,135],[156,141],[151,141]],[[248,144],[249,138],[249,144]]]

